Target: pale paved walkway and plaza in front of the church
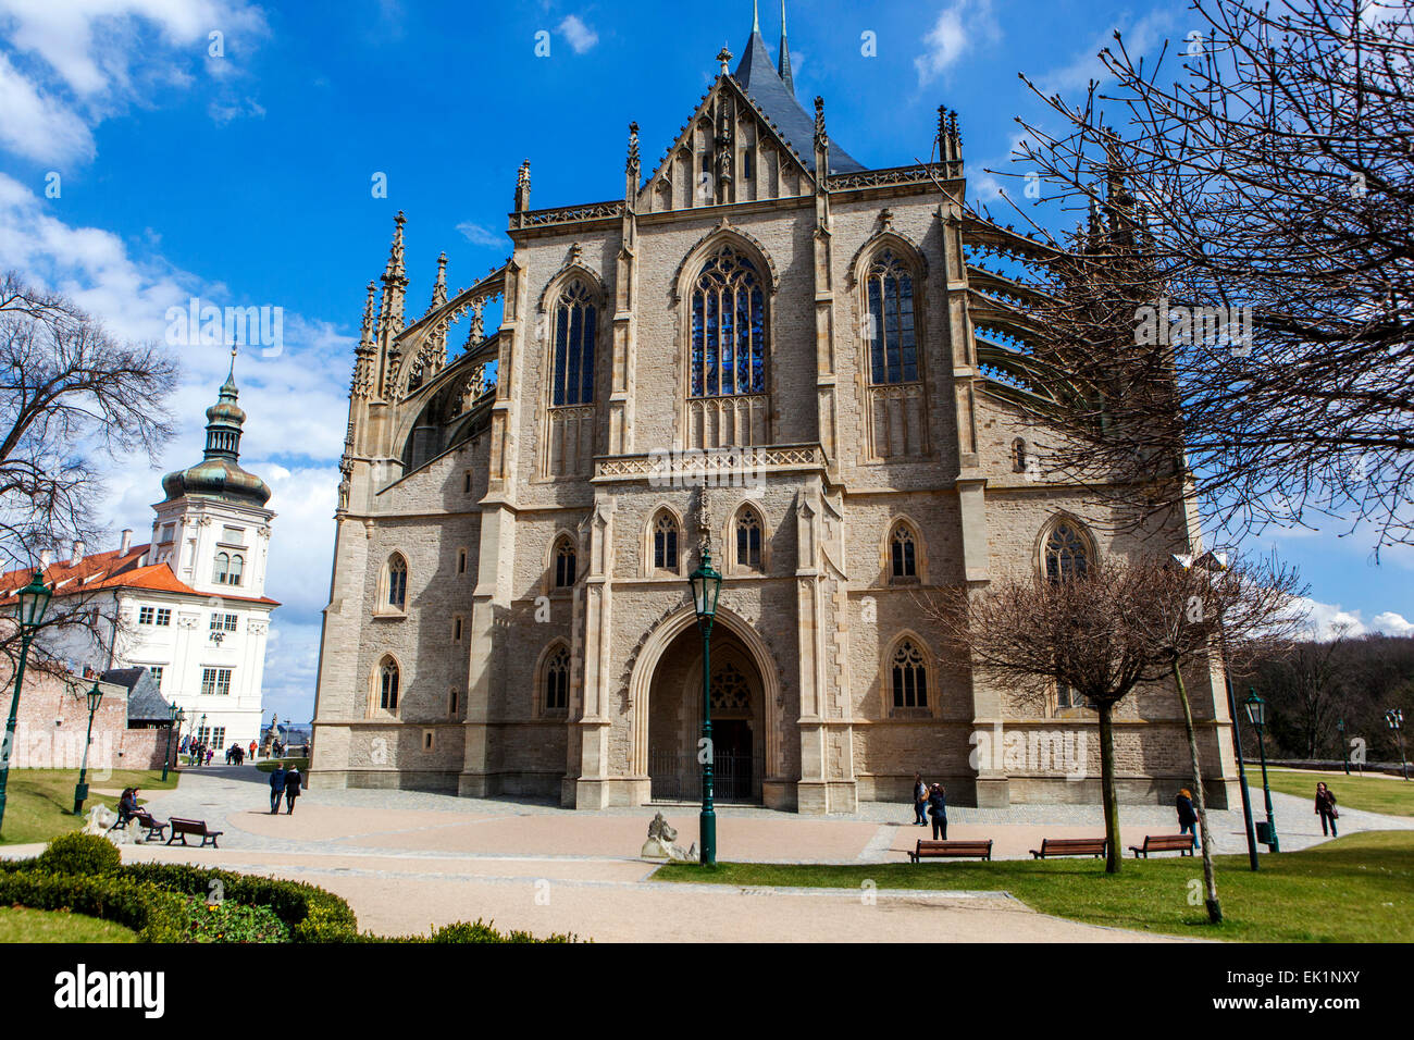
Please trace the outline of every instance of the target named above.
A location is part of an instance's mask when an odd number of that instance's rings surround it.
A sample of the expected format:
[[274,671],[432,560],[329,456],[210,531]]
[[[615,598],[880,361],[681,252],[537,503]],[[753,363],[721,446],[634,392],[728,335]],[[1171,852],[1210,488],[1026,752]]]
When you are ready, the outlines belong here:
[[[636,857],[655,808],[575,812],[529,799],[413,791],[315,790],[294,815],[269,814],[267,774],[255,767],[185,770],[157,794],[160,818],[192,816],[225,831],[221,849],[137,845],[129,860],[222,866],[307,880],[349,900],[379,934],[424,932],[478,917],[501,928],[570,931],[597,941],[1165,941],[1034,913],[998,893],[741,889],[649,880]],[[1305,799],[1273,795],[1282,849],[1318,843]],[[1261,798],[1257,791],[1258,814]],[[662,807],[679,842],[697,838],[694,805]],[[929,828],[912,807],[868,802],[848,816],[812,818],[718,807],[717,848],[738,862],[896,863]],[[998,859],[1025,859],[1042,836],[1103,833],[1099,807],[949,809],[949,838],[991,838]],[[1171,833],[1164,807],[1121,807],[1124,843]],[[1213,812],[1220,852],[1246,849],[1241,812]],[[1342,831],[1414,828],[1414,819],[1342,809]],[[37,849],[35,849],[37,850]],[[782,850],[789,850],[782,855]],[[24,846],[7,855],[33,855]],[[928,870],[946,879],[946,863]]]

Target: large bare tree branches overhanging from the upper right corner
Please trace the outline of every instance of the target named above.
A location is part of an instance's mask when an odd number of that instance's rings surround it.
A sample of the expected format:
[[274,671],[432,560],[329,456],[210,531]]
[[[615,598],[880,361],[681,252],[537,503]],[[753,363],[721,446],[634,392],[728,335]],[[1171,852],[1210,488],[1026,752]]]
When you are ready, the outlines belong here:
[[1003,362],[1066,434],[1058,471],[1176,487],[1234,535],[1328,515],[1414,541],[1414,7],[1193,11],[1178,62],[1116,34],[1113,88],[1027,79],[1062,129],[1022,122],[1017,175],[1092,219],[1044,235]]

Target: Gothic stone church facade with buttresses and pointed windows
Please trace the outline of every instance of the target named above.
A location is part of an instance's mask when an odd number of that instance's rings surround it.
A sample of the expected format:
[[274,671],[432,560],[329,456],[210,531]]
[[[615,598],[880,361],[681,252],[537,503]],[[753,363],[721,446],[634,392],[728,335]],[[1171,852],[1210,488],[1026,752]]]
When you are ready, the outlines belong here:
[[[960,804],[1096,797],[1093,712],[942,668],[916,596],[1034,572],[1060,521],[1092,555],[1196,531],[1107,533],[1018,464],[1035,434],[978,362],[997,279],[973,253],[1036,243],[964,212],[956,116],[936,161],[864,170],[759,34],[734,74],[718,58],[646,177],[631,127],[621,201],[532,209],[523,166],[510,258],[451,294],[441,258],[411,323],[399,214],[354,364],[314,785],[696,797],[686,577],[707,535],[720,792],[847,812],[921,771]],[[1219,679],[1191,686],[1213,805],[1233,773]],[[1171,799],[1172,691],[1117,719],[1124,797]]]

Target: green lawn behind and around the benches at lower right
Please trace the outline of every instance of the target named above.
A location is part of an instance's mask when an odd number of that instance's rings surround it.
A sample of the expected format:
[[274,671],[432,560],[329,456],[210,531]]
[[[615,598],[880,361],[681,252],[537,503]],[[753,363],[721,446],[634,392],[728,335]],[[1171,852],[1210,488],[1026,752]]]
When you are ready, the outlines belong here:
[[[660,882],[795,886],[860,890],[952,889],[1010,891],[1044,914],[1086,924],[1243,942],[1414,942],[1414,832],[1376,831],[1305,852],[1261,857],[1217,856],[1223,923],[1208,924],[1202,862],[1195,856],[1126,860],[1106,874],[1103,860],[995,860],[991,863],[773,865],[670,863]],[[1193,882],[1198,882],[1195,886]],[[1198,906],[1189,903],[1196,891]]]

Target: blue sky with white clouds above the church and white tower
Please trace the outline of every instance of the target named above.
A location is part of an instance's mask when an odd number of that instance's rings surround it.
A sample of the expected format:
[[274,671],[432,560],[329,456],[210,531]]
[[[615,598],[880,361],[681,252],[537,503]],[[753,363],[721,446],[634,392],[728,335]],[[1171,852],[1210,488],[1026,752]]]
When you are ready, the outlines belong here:
[[[273,485],[280,514],[269,591],[286,606],[267,710],[312,709],[351,351],[393,215],[409,219],[417,314],[440,250],[454,290],[509,253],[523,158],[534,207],[619,197],[629,120],[652,168],[723,42],[740,54],[751,28],[749,0],[646,10],[0,0],[0,267],[72,293],[133,338],[161,341],[167,308],[192,296],[283,308],[283,351],[238,365],[242,461]],[[779,4],[761,18],[773,52]],[[1018,71],[1075,96],[1114,28],[1143,52],[1198,28],[1184,1],[796,0],[788,20],[799,96],[807,108],[824,96],[831,136],[865,166],[926,158],[936,106],[957,109],[974,200],[995,192],[983,168],[1007,166],[1015,116],[1042,115]],[[180,355],[182,433],[163,470],[199,457],[228,361],[219,347]],[[115,532],[148,528],[158,475],[115,466]],[[1299,566],[1319,623],[1414,631],[1414,550],[1387,549],[1376,566],[1369,536],[1340,531],[1267,532],[1251,546]]]

